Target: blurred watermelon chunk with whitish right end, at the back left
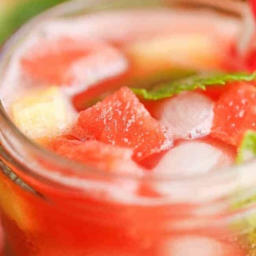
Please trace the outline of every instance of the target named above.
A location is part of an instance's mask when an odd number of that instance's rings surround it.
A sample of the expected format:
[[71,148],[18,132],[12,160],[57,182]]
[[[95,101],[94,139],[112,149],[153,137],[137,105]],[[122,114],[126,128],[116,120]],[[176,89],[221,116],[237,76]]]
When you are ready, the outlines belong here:
[[48,84],[80,85],[76,91],[127,67],[122,53],[108,44],[68,37],[39,41],[20,63],[26,77]]

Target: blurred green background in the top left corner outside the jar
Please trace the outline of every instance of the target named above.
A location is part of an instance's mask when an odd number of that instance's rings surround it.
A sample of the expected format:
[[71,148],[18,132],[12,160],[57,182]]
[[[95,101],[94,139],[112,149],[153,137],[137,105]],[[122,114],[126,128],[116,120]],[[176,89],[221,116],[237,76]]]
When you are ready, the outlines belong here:
[[67,0],[0,0],[0,44],[24,22]]

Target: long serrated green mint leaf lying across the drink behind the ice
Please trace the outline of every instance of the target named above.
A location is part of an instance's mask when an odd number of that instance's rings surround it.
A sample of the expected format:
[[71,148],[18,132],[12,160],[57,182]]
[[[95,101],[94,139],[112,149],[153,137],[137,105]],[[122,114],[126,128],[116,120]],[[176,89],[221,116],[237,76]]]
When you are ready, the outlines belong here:
[[159,84],[151,89],[131,88],[137,95],[148,100],[158,100],[174,96],[183,91],[202,89],[206,90],[210,85],[225,85],[227,82],[252,81],[256,79],[256,73],[232,73],[232,74],[206,74],[191,76],[187,79],[170,81]]

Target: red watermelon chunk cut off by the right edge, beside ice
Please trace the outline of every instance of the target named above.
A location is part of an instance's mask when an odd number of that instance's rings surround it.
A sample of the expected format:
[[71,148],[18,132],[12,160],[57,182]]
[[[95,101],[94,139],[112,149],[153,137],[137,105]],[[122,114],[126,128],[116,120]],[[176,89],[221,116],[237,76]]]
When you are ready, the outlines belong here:
[[256,88],[234,84],[216,102],[214,113],[212,137],[238,146],[247,129],[256,129]]

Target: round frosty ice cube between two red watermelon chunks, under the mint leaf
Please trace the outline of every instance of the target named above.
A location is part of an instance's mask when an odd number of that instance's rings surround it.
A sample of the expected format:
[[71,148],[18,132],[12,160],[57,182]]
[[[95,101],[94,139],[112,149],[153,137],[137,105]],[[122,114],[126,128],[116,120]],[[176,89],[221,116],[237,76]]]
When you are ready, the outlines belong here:
[[210,133],[214,102],[197,92],[185,92],[166,99],[156,110],[156,117],[170,128],[173,136],[186,140]]

